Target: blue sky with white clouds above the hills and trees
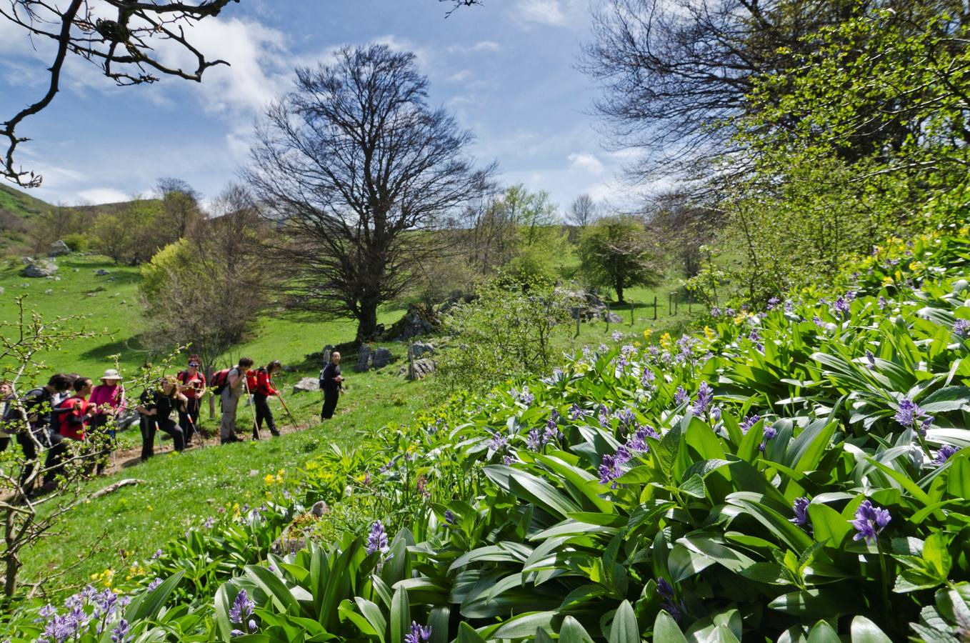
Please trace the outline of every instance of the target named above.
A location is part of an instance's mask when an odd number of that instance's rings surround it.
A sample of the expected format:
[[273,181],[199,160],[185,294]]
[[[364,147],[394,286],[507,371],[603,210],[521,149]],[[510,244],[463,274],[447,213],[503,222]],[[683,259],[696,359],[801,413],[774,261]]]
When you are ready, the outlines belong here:
[[[246,162],[255,119],[285,91],[293,67],[342,45],[380,42],[417,54],[431,102],[476,136],[501,180],[547,190],[561,209],[578,194],[623,201],[625,156],[604,149],[589,115],[598,90],[575,69],[590,39],[587,0],[486,0],[444,18],[436,0],[242,0],[195,27],[193,42],[232,67],[201,84],[164,79],[118,88],[81,60],[44,113],[19,132],[20,162],[45,176],[54,203],[105,203],[151,191],[158,177],[215,196]],[[0,17],[0,114],[43,93],[45,43]]]

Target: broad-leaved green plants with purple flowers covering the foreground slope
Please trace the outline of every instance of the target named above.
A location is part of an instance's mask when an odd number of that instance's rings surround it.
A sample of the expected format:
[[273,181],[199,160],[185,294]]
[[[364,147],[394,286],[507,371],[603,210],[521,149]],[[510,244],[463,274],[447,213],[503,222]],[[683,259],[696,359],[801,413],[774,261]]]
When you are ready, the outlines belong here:
[[328,451],[280,500],[327,500],[307,549],[213,547],[167,608],[197,620],[146,640],[960,640],[968,260],[965,231],[892,241],[838,293]]

